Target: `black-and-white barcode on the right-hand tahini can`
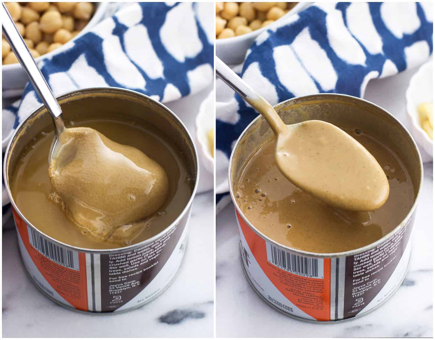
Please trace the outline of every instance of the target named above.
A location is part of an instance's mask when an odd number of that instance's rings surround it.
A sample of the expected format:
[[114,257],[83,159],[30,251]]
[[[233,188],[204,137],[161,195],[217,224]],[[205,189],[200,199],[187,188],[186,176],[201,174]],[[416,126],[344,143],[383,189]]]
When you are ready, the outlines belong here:
[[323,279],[323,259],[294,255],[266,242],[268,262],[299,276]]

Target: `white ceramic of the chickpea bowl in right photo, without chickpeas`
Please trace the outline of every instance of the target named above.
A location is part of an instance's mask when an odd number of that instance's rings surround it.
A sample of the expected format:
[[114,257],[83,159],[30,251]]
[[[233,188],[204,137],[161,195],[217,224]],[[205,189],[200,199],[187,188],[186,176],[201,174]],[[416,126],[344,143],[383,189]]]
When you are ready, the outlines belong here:
[[216,55],[228,65],[241,64],[244,61],[246,51],[252,45],[254,40],[265,30],[271,29],[274,26],[279,26],[282,20],[295,13],[305,10],[311,6],[312,2],[298,2],[291,10],[288,11],[283,17],[276,20],[273,24],[266,27],[254,30],[254,32],[239,35],[237,37],[216,39]]

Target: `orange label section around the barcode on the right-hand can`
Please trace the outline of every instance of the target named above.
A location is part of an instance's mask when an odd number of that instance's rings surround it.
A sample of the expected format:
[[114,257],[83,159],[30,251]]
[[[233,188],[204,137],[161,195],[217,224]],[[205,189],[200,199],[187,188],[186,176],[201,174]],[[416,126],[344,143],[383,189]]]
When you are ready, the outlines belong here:
[[[236,212],[244,238],[273,285],[295,306],[316,320],[331,320],[331,259],[323,259],[323,279],[289,273],[268,262],[266,242]],[[283,303],[285,303],[283,301]]]

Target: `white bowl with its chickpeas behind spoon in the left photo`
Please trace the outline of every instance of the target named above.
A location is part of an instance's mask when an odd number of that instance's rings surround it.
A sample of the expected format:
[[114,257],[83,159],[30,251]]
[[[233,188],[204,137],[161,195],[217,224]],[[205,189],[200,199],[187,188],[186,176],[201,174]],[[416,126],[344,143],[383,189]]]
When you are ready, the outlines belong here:
[[[68,47],[64,44],[94,27],[103,18],[107,3],[7,2],[6,7],[38,63],[65,50]],[[20,94],[27,81],[17,57],[2,37],[3,95]]]

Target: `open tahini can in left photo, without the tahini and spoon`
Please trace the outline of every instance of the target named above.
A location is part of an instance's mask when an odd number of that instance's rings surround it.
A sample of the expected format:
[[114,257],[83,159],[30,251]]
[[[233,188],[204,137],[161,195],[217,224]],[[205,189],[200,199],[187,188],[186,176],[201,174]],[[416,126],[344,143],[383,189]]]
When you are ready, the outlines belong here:
[[74,119],[80,114],[87,117],[92,110],[100,114],[96,117],[127,117],[135,124],[151,125],[171,144],[177,145],[190,179],[194,181],[184,210],[170,226],[151,239],[117,249],[78,248],[40,232],[20,212],[10,192],[10,177],[20,153],[32,138],[53,124],[45,107],[41,106],[23,121],[10,140],[3,178],[13,207],[20,253],[30,279],[45,295],[74,310],[110,313],[131,310],[162,293],[181,266],[198,181],[194,142],[171,110],[135,91],[90,88],[65,94],[58,101],[65,119]]

